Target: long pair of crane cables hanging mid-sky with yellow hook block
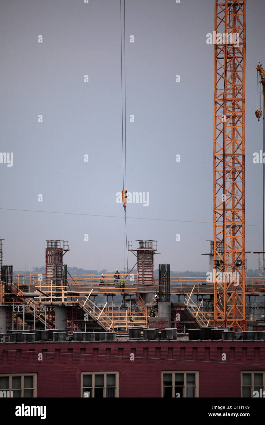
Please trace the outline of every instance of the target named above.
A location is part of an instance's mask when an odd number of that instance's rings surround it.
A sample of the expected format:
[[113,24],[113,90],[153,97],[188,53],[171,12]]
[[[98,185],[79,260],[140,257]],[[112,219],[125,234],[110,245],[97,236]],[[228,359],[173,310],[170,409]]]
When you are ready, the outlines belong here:
[[[121,88],[122,88],[122,142],[123,142],[123,190],[125,181],[125,190],[127,187],[127,164],[126,164],[126,85],[125,85],[125,0],[124,0],[124,108],[123,108],[123,42],[122,42],[122,0],[120,0],[120,59],[121,59]],[[123,111],[124,110],[124,111]],[[123,119],[124,115],[124,119]],[[124,122],[124,135],[123,135]],[[127,273],[128,269],[128,250],[127,248],[127,223],[126,223],[126,202],[124,208],[124,274],[127,252]]]

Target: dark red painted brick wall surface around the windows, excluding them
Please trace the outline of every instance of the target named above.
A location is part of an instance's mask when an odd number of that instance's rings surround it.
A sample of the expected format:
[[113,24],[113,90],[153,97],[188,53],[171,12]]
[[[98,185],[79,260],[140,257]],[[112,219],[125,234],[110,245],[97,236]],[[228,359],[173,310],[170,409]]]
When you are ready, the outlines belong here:
[[265,343],[0,343],[0,374],[37,373],[37,397],[80,397],[83,371],[119,372],[120,397],[161,397],[162,371],[199,371],[199,397],[241,397],[240,372],[265,371]]

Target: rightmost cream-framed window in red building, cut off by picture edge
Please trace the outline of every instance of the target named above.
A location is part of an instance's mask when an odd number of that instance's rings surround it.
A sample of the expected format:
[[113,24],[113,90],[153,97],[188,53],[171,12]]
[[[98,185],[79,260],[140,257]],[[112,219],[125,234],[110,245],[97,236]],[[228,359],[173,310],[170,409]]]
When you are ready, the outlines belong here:
[[[241,372],[241,397],[264,397],[265,372]],[[256,391],[254,393],[254,391]]]

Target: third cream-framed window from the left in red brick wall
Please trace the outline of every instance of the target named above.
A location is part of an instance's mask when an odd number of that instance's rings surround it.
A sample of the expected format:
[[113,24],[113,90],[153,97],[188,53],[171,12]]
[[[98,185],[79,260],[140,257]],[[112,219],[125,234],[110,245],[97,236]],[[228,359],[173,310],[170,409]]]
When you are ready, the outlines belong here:
[[162,372],[162,397],[193,398],[199,397],[198,371]]

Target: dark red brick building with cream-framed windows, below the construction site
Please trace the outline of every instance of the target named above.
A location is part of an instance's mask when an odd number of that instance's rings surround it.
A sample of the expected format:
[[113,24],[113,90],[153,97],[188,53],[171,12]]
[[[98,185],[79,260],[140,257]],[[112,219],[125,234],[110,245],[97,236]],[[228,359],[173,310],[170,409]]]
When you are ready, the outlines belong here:
[[233,398],[264,387],[263,341],[0,344],[0,391],[13,397]]

